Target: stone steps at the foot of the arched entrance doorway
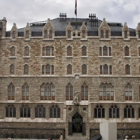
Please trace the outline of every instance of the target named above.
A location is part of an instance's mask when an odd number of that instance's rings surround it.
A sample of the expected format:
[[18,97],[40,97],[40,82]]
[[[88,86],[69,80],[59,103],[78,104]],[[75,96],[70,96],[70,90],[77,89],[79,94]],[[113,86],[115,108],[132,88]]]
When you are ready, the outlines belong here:
[[86,140],[86,136],[83,136],[82,133],[73,133],[67,140]]

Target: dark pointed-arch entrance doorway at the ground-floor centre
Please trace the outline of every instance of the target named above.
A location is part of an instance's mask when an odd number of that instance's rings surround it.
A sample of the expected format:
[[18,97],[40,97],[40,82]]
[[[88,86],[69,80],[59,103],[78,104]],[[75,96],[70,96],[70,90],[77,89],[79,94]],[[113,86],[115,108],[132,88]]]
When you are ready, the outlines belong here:
[[73,133],[82,133],[83,118],[79,113],[76,113],[72,117],[72,132]]

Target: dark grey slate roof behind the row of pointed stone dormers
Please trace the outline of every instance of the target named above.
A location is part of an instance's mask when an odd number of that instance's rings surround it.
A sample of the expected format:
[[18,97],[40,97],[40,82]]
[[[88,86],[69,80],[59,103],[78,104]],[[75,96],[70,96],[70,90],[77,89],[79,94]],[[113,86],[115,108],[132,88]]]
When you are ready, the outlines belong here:
[[[68,23],[71,23],[71,26],[73,30],[77,28],[77,30],[80,30],[82,23],[85,22],[85,25],[87,27],[88,36],[98,36],[98,29],[102,23],[102,20],[97,19],[98,25],[93,25],[93,21],[89,18],[55,18],[50,20],[54,30],[55,30],[55,36],[66,36],[66,28]],[[32,36],[42,36],[42,29],[47,23],[46,21],[40,21],[40,22],[33,22],[30,23],[30,28],[32,32]],[[122,36],[122,28],[123,25],[121,23],[113,23],[113,22],[107,22],[111,29],[111,36]],[[20,28],[18,29],[18,36],[24,36],[24,29]],[[130,36],[136,36],[135,29],[129,28]],[[6,32],[6,36],[10,36],[10,31]]]

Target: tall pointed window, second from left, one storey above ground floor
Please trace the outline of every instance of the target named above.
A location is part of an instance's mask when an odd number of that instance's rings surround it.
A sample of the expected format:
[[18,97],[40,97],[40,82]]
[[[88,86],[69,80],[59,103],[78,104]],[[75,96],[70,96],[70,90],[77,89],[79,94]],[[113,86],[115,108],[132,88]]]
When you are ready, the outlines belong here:
[[26,83],[22,86],[22,100],[29,100],[29,86]]

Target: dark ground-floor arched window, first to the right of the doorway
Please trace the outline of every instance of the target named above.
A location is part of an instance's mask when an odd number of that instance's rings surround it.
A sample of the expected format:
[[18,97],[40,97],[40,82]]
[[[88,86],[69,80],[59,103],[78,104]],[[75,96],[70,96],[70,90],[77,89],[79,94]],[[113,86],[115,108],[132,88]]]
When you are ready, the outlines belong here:
[[105,109],[102,105],[97,105],[94,109],[94,118],[105,118]]

